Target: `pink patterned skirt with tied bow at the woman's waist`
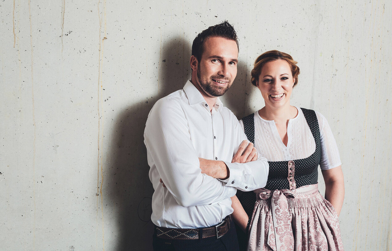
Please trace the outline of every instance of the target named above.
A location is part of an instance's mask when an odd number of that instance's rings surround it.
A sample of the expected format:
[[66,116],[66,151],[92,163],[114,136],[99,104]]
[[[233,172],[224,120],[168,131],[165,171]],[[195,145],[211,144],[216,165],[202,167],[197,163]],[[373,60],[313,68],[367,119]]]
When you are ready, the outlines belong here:
[[248,250],[343,250],[338,215],[317,184],[254,192]]

